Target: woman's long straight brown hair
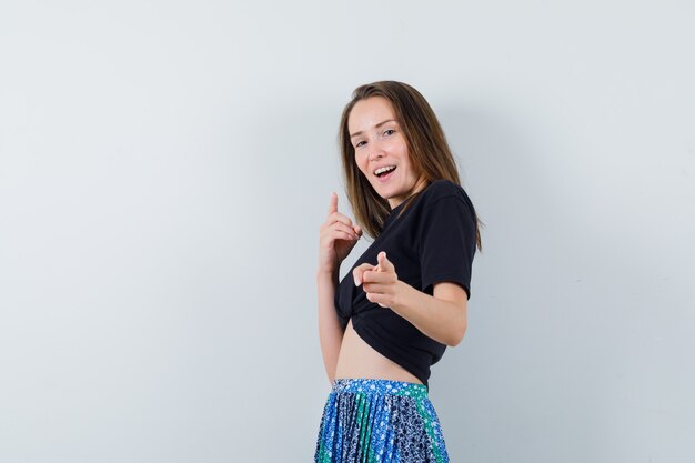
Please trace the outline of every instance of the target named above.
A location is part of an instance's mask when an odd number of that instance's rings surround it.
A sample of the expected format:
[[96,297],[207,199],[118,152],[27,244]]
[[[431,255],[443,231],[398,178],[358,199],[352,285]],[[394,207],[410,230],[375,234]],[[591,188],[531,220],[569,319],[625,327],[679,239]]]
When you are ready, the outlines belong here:
[[[401,130],[415,172],[426,184],[450,180],[461,184],[456,161],[449,148],[444,131],[424,97],[406,83],[381,81],[357,87],[345,105],[340,122],[339,143],[345,177],[348,199],[357,223],[376,238],[391,213],[389,202],[381,198],[355,163],[355,150],[350,141],[348,122],[354,105],[372,97],[389,100]],[[407,204],[405,204],[407,207]],[[481,249],[480,221],[476,218],[475,243]]]

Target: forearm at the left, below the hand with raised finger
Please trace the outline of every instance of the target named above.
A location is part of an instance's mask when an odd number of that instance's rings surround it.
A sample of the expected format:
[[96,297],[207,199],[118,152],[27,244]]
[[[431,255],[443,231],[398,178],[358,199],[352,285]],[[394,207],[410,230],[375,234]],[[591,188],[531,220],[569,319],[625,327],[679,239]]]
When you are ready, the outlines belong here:
[[343,342],[343,329],[340,325],[333,299],[338,288],[338,271],[333,273],[318,272],[316,286],[319,290],[319,340],[323,365],[329,382],[335,379],[338,355]]

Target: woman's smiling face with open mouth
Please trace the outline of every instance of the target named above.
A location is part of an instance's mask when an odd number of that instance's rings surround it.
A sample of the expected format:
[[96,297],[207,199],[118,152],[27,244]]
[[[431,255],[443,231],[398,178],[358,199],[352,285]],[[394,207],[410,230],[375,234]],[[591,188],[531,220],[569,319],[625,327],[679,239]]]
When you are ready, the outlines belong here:
[[357,101],[348,129],[357,168],[391,209],[425,187],[411,163],[405,135],[389,100],[372,97]]

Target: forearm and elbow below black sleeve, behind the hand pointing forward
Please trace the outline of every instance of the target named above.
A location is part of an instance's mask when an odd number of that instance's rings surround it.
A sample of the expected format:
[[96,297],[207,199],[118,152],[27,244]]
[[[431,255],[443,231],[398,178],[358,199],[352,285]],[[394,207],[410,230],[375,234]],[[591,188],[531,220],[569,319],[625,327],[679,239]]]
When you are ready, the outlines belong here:
[[461,342],[466,330],[463,289],[455,283],[437,284],[432,296],[405,282],[397,284],[401,286],[399,298],[391,310],[442,344],[454,346]]

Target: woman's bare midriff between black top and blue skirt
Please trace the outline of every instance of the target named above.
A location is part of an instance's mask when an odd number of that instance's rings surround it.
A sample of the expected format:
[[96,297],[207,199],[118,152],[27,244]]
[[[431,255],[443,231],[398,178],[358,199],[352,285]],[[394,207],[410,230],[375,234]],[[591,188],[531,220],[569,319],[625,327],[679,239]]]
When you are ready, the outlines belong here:
[[422,384],[417,378],[369,345],[348,322],[335,368],[336,379],[370,378]]

